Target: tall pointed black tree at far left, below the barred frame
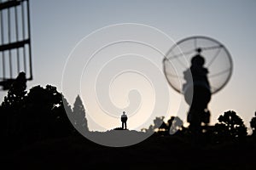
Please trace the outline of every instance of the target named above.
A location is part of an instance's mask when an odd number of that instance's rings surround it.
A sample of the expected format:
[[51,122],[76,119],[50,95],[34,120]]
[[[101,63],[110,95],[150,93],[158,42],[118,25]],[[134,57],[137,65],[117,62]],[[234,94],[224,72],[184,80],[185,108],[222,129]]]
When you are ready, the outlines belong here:
[[[0,112],[0,132],[3,144],[18,146],[20,139],[20,113],[24,110],[26,99],[26,75],[20,72],[4,97]],[[18,140],[19,141],[19,140]]]

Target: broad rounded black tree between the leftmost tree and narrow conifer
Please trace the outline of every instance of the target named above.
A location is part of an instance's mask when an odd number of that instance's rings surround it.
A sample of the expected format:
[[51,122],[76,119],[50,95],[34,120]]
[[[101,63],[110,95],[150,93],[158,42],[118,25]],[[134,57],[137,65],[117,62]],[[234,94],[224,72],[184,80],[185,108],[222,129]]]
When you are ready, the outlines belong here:
[[22,116],[24,131],[35,139],[66,136],[73,130],[67,117],[69,112],[70,105],[55,87],[31,88]]

